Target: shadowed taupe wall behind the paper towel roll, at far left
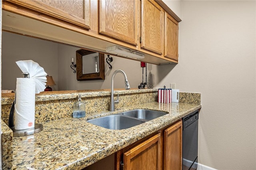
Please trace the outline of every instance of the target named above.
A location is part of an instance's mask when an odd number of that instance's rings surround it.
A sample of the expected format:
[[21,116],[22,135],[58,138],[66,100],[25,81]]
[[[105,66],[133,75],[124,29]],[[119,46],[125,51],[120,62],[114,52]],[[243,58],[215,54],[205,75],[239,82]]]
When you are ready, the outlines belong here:
[[[2,89],[15,90],[16,78],[23,77],[15,63],[32,59],[58,84],[58,44],[9,32],[2,32]],[[58,90],[58,86],[52,86]]]

